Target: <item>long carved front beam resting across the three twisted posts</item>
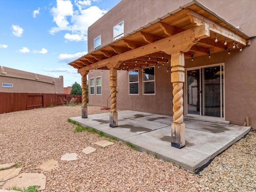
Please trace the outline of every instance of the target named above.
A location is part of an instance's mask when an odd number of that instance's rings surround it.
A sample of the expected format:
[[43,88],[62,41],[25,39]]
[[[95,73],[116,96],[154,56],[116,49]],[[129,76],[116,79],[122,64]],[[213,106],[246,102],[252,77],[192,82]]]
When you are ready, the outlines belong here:
[[88,66],[80,68],[78,71],[81,72],[83,70],[92,70],[100,68],[102,66],[107,66],[110,63],[126,61],[132,58],[138,58],[140,56],[144,56],[159,51],[166,52],[169,55],[177,52],[187,52],[194,44],[196,44],[196,42],[199,39],[206,38],[209,36],[209,26],[207,24],[202,24],[195,28],[161,39],[157,42],[153,42],[136,48],[134,50],[130,50],[122,54],[115,55],[111,58],[106,58],[104,60],[90,64]]

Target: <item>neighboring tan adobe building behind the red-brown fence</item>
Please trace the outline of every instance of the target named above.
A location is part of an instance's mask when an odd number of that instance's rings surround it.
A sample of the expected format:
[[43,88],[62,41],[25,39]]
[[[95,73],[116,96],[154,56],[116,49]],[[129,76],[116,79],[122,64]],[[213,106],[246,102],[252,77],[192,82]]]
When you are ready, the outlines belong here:
[[59,78],[0,66],[0,92],[64,93],[63,76]]

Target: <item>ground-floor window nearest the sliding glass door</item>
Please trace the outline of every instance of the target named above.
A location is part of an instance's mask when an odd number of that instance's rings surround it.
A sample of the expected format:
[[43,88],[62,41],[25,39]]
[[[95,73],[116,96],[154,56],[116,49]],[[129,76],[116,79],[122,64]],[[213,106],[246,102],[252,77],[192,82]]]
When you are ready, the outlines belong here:
[[143,70],[143,94],[155,94],[155,68]]

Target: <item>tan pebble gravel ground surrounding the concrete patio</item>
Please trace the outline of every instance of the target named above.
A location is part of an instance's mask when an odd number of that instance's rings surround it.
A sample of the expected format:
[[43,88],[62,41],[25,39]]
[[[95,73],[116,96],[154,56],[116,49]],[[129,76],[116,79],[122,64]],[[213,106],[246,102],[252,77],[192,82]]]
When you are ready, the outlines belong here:
[[[88,114],[107,112],[89,106]],[[89,191],[255,191],[256,133],[250,131],[199,174],[192,174],[170,162],[137,152],[120,141],[100,148],[98,134],[74,133],[68,117],[80,116],[81,107],[59,106],[0,114],[0,164],[16,162],[22,172],[46,175],[44,192]],[[87,146],[92,154],[82,153]],[[76,161],[60,161],[66,153],[78,154]],[[36,167],[58,160],[50,172]],[[1,186],[0,186],[1,188]]]

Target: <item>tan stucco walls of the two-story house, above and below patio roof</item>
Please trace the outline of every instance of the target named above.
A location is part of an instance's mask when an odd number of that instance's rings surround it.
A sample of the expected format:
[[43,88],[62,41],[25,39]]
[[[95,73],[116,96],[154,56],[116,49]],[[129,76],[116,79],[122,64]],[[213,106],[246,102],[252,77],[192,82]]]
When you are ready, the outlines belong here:
[[[150,3],[149,3],[150,2]],[[127,34],[176,10],[179,6],[191,2],[190,0],[122,0],[88,29],[88,50],[93,50],[94,38],[101,35],[102,45],[112,42],[113,26],[124,20],[124,33]],[[256,35],[256,4],[254,0],[199,0],[210,10],[230,22],[239,26],[240,30],[249,36]],[[251,38],[251,45],[238,49],[211,53],[211,58],[206,56],[185,60],[185,68],[206,66],[224,63],[224,94],[225,94],[225,119],[234,124],[242,125],[245,117],[249,116],[250,125],[256,128],[256,38]],[[101,71],[98,72],[100,76]],[[142,72],[139,72],[139,96],[128,95],[128,72],[118,72],[117,108],[154,112],[172,115],[172,84],[170,73],[166,68],[156,68],[156,95],[142,95]],[[102,87],[106,86],[104,96],[89,97],[91,105],[106,106],[106,99],[110,94],[108,72],[104,72]],[[89,76],[96,76],[96,70]]]

